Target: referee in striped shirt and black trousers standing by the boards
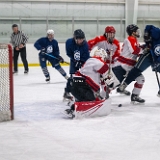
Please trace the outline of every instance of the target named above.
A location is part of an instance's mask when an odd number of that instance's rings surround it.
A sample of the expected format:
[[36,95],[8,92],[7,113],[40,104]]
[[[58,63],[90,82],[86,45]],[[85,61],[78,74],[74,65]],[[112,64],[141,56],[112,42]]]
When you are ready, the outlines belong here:
[[13,33],[11,34],[11,43],[14,49],[14,73],[18,73],[18,56],[20,53],[23,65],[24,65],[24,73],[28,73],[28,62],[26,59],[26,42],[28,41],[28,37],[25,33],[18,30],[18,25],[12,25]]

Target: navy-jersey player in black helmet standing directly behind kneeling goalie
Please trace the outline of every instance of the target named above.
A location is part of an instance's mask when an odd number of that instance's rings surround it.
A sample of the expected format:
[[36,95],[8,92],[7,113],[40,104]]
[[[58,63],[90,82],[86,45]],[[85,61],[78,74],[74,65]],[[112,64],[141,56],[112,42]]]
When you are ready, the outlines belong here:
[[71,99],[70,95],[70,81],[72,75],[85,63],[89,58],[89,49],[87,41],[85,40],[85,34],[81,29],[74,31],[73,37],[69,38],[66,43],[66,54],[70,58],[70,71],[71,77],[68,79],[63,97],[65,99]]

